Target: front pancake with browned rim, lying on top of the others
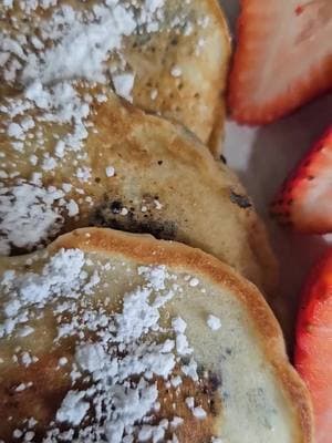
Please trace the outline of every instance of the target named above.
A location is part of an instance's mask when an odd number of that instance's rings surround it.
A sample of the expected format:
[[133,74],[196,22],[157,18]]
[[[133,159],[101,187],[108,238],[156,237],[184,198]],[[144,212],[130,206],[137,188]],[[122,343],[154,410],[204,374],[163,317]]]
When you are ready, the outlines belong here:
[[313,442],[273,315],[216,258],[92,228],[0,275],[6,443]]

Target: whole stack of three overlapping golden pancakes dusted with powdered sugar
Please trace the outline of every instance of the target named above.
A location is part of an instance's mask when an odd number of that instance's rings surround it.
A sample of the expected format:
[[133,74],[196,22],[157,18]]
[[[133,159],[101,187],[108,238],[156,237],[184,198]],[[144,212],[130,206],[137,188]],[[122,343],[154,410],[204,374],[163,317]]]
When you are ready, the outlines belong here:
[[0,440],[312,441],[229,55],[212,0],[1,2]]

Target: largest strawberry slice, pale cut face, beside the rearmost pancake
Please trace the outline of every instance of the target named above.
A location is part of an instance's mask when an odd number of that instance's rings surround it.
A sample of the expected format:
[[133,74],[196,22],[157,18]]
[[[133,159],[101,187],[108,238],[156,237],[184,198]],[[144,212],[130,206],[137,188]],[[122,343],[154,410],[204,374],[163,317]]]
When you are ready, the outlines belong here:
[[266,124],[332,89],[331,0],[241,0],[228,104]]

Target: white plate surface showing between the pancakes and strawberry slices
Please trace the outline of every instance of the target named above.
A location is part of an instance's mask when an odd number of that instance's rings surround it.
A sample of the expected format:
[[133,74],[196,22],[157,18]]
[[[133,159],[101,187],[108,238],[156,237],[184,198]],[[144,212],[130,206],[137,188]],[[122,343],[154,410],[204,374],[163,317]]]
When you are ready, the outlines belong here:
[[[238,1],[220,2],[230,29],[235,29]],[[329,94],[267,126],[250,128],[228,122],[226,127],[225,156],[267,223],[280,262],[279,295],[292,319],[303,280],[332,236],[304,236],[279,227],[269,216],[269,204],[286,176],[331,123],[332,94]]]

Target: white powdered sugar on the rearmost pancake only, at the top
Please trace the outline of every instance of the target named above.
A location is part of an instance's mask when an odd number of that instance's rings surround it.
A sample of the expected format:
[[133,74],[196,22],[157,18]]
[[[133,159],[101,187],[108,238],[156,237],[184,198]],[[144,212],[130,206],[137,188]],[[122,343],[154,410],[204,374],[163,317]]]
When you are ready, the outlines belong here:
[[[35,6],[40,3],[35,1]],[[17,41],[2,35],[0,62],[6,66],[4,78],[24,86],[35,80],[43,84],[77,78],[105,82],[110,74],[106,62],[112,53],[120,53],[124,37],[136,34],[142,27],[148,33],[159,30],[164,3],[165,0],[146,0],[138,7],[135,2],[112,0],[81,10],[69,4],[54,8],[54,2],[48,2],[43,8],[52,7],[52,13],[38,22],[39,37],[34,37],[32,48],[25,38],[20,42],[19,38]],[[23,10],[32,19],[35,7]],[[131,99],[134,74],[118,69],[121,64],[113,76],[115,90]]]

